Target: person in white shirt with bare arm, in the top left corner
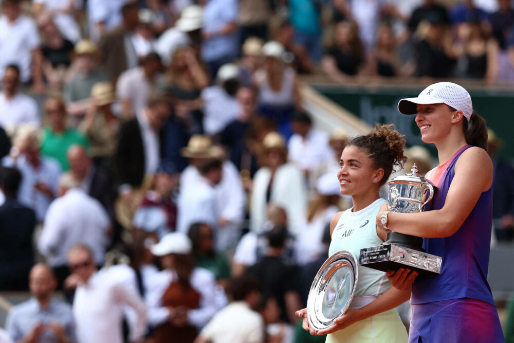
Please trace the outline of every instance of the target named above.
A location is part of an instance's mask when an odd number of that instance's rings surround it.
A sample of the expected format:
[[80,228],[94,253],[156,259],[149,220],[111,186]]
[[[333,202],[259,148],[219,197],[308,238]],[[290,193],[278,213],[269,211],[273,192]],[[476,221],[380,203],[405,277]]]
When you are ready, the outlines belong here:
[[21,14],[20,0],[3,0],[0,16],[0,77],[6,66],[16,63],[20,66],[23,83],[32,81],[34,91],[42,92],[43,54],[38,27],[28,16]]

